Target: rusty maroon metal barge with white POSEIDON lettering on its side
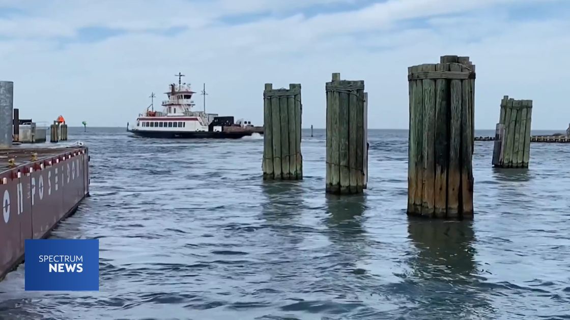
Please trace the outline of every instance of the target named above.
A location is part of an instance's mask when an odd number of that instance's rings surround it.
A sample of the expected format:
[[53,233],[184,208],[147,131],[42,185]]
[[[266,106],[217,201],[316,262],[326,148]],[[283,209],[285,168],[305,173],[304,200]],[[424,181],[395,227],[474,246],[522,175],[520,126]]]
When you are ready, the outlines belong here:
[[23,261],[26,239],[47,237],[89,196],[89,153],[79,146],[0,149],[0,155],[17,163],[0,172],[2,280]]

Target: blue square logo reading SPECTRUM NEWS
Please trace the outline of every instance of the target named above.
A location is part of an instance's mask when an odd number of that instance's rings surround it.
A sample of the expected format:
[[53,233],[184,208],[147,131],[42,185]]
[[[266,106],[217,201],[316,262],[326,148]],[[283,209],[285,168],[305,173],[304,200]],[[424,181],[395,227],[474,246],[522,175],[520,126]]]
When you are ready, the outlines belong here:
[[99,239],[27,239],[25,290],[99,291]]

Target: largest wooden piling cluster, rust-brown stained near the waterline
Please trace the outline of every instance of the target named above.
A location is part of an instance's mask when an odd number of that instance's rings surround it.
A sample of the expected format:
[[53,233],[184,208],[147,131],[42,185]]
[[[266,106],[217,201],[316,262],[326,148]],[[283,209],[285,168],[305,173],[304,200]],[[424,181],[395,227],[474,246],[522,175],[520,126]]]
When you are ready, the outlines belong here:
[[408,214],[472,219],[475,65],[439,62],[408,68]]

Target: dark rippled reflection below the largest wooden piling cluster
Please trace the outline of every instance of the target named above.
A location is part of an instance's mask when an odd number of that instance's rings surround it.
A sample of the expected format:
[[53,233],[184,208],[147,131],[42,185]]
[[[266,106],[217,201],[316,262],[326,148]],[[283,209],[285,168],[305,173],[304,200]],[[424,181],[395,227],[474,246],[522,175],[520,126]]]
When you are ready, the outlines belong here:
[[417,256],[409,259],[417,288],[413,299],[417,307],[410,314],[413,318],[446,314],[467,319],[488,314],[490,304],[477,288],[472,223],[409,218],[408,237],[418,250]]

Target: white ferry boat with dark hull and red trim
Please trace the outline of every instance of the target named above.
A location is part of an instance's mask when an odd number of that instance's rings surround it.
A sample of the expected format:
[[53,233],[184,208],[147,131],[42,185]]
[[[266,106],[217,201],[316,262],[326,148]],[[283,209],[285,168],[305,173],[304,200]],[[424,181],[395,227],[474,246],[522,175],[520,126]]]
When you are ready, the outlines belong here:
[[[263,134],[263,126],[254,126],[251,121],[233,116],[220,117],[217,113],[206,113],[206,86],[202,90],[204,110],[194,111],[192,97],[194,91],[190,84],[182,83],[178,75],[178,86],[170,84],[170,91],[165,92],[168,100],[162,101],[162,112],[154,111],[154,100],[144,113],[137,117],[133,128],[127,131],[135,136],[146,138],[241,138],[254,133]],[[150,95],[154,99],[154,93]],[[150,110],[149,110],[150,109]]]

